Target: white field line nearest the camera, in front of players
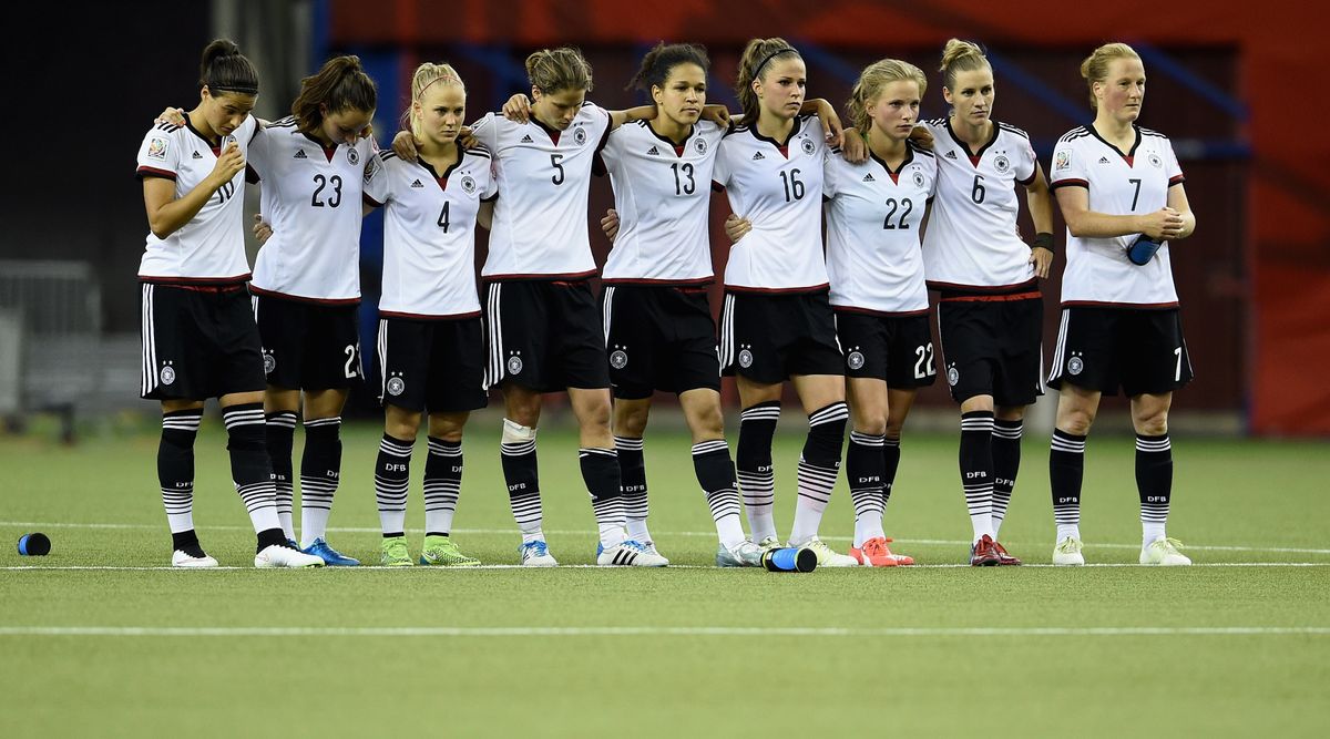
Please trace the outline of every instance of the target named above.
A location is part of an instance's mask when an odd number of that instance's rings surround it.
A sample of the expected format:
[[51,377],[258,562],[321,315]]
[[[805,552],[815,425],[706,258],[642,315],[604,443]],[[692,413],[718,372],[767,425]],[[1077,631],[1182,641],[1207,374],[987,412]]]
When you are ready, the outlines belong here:
[[1326,637],[1326,626],[0,626],[0,637]]

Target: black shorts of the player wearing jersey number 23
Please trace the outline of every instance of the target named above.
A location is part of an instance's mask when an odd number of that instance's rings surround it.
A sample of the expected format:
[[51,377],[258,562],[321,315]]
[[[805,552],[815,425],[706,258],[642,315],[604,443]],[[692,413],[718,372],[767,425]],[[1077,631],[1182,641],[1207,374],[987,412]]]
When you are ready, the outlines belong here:
[[285,389],[348,388],[364,376],[355,304],[254,295],[267,384]]

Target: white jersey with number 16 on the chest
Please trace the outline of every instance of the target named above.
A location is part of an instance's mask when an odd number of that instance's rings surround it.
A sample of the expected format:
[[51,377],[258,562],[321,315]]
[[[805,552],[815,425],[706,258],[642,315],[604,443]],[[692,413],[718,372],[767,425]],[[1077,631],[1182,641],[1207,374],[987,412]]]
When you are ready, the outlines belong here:
[[725,287],[757,292],[810,292],[827,287],[822,255],[822,121],[797,116],[785,145],[733,126],[721,140],[712,178],[730,209],[753,230],[730,247]]

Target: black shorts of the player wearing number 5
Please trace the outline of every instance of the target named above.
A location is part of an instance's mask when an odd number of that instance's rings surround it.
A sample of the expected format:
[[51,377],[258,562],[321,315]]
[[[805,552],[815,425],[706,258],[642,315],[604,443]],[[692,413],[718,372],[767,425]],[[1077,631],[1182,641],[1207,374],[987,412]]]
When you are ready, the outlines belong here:
[[609,360],[587,280],[499,280],[485,295],[485,387],[608,388]]

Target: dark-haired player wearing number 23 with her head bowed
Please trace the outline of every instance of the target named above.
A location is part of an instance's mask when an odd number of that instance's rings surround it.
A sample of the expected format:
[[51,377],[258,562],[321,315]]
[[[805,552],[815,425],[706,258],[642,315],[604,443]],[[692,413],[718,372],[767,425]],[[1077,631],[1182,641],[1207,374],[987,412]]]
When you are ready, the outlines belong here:
[[301,546],[329,565],[358,565],[325,540],[342,471],[342,407],[360,376],[362,191],[374,161],[376,92],[359,58],[329,60],[301,81],[293,116],[265,126],[250,166],[273,237],[254,264],[254,318],[267,373],[267,447],[282,526],[291,522],[291,437],[303,395]]

